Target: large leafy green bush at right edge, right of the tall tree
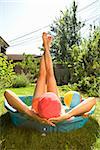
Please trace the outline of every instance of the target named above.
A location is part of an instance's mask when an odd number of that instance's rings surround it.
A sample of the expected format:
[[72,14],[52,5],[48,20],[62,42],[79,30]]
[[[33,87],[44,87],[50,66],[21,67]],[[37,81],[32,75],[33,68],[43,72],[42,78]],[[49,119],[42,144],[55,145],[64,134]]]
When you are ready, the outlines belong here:
[[100,27],[80,46],[72,47],[72,59],[72,80],[69,81],[77,83],[89,96],[100,96]]

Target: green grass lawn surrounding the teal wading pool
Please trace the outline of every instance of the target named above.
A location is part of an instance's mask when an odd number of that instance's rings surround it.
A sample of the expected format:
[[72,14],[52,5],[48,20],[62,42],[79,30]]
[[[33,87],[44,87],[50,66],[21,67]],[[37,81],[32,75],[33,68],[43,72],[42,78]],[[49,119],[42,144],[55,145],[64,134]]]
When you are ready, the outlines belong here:
[[[34,86],[11,89],[17,95],[32,95]],[[60,95],[65,89],[59,87]],[[4,108],[4,90],[0,92],[0,150],[99,150],[100,100],[95,113],[86,125],[68,133],[49,133],[46,136],[33,129],[16,128]]]

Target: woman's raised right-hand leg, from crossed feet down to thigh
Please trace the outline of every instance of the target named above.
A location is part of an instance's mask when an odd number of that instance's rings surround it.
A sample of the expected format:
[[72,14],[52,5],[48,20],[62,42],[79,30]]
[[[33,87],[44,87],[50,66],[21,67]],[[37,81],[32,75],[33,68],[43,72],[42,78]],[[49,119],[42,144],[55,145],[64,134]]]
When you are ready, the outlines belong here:
[[54,92],[55,94],[58,95],[57,84],[56,84],[56,80],[54,77],[53,64],[52,64],[52,59],[50,55],[50,47],[49,47],[50,40],[52,39],[50,36],[47,37],[47,33],[43,33],[42,38],[43,38],[43,45],[44,45],[47,91]]

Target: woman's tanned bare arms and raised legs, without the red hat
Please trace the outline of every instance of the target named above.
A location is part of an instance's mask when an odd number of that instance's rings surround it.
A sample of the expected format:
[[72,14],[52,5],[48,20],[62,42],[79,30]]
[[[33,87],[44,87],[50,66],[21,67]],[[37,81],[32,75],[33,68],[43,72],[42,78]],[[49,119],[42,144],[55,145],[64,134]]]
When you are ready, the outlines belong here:
[[41,57],[40,61],[39,76],[34,92],[32,108],[30,109],[27,105],[25,105],[16,96],[16,94],[10,90],[6,90],[4,96],[7,99],[8,103],[12,107],[16,108],[19,112],[25,113],[33,119],[36,119],[42,123],[47,123],[49,125],[55,126],[56,122],[67,120],[72,116],[84,114],[90,111],[93,105],[95,105],[96,100],[95,98],[88,98],[87,101],[80,103],[68,113],[61,113],[61,115],[57,117],[45,119],[38,115],[39,101],[43,95],[44,98],[46,98],[46,94],[48,92],[50,92],[51,97],[53,96],[53,94],[55,94],[57,96],[57,100],[60,102],[60,98],[58,96],[57,91],[57,84],[54,77],[52,59],[50,55],[50,44],[52,42],[52,37],[44,32],[42,35],[42,39],[44,46],[44,54]]

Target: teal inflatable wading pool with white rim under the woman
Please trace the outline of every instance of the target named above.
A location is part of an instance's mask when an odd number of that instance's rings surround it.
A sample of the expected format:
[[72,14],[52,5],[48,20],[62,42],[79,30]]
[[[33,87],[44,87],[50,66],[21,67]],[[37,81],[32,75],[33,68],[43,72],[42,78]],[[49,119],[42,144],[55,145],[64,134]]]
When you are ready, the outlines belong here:
[[[33,98],[32,96],[19,96],[19,98],[28,106],[32,104],[32,98]],[[62,104],[64,105],[67,112],[72,108],[68,109],[64,104],[63,99],[64,97],[61,97]],[[14,109],[8,104],[7,100],[5,100],[5,107],[9,111],[11,120],[15,126],[34,128],[41,132],[67,132],[67,131],[81,128],[85,125],[85,123],[89,119],[89,116],[93,114],[95,110],[95,106],[93,106],[93,108],[88,112],[87,117],[83,117],[83,116],[72,117],[66,121],[57,123],[56,126],[53,127],[53,126],[39,123],[38,121],[35,120],[31,120],[26,115],[19,113],[16,109]]]

